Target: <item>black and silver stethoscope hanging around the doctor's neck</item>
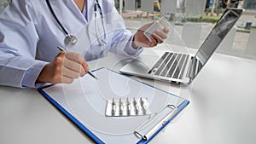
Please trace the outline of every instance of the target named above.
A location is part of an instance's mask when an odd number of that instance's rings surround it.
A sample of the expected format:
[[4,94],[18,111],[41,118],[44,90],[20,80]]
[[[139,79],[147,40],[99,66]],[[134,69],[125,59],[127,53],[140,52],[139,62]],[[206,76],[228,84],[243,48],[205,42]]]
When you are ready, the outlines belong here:
[[[67,45],[76,45],[77,43],[79,43],[79,40],[78,40],[78,37],[72,35],[72,34],[69,34],[66,30],[66,28],[64,26],[61,25],[61,22],[60,20],[57,18],[56,14],[55,14],[55,11],[52,9],[51,7],[51,4],[49,3],[49,0],[46,0],[46,3],[49,7],[49,10],[51,12],[51,14],[53,14],[53,16],[55,17],[55,20],[57,21],[58,25],[61,26],[61,29],[63,32],[65,32],[65,39],[64,39],[64,42],[67,44]],[[100,39],[99,35],[98,35],[98,30],[97,30],[97,20],[96,20],[96,17],[97,17],[97,11],[99,9],[99,13],[101,14],[101,20],[102,20],[102,26],[103,26],[103,31],[104,31],[104,36],[102,37],[102,39]],[[97,41],[104,45],[104,44],[107,44],[108,43],[108,38],[107,38],[107,32],[106,32],[106,28],[105,28],[105,25],[104,25],[104,17],[103,17],[103,14],[102,14],[102,8],[98,2],[98,0],[95,0],[95,4],[94,4],[94,13],[95,13],[95,27],[96,27],[96,38],[97,38]]]

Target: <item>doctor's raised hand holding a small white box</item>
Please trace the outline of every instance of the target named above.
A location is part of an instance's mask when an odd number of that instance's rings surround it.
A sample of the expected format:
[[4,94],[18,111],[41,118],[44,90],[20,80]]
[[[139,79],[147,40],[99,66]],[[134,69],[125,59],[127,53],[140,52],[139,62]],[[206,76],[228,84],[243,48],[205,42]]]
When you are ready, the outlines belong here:
[[133,48],[137,49],[138,47],[154,47],[158,43],[164,42],[164,39],[166,39],[169,33],[169,29],[167,27],[165,27],[163,30],[156,29],[151,35],[152,42],[150,42],[148,38],[143,34],[143,32],[145,32],[152,24],[153,23],[146,24],[137,30],[132,42]]

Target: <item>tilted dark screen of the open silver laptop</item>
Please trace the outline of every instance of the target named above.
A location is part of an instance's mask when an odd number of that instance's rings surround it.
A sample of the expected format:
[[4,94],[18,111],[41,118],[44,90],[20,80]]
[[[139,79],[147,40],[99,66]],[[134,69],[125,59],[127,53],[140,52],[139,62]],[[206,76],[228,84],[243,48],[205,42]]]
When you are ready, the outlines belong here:
[[204,66],[215,49],[217,49],[219,43],[221,43],[226,34],[230,32],[230,29],[241,16],[242,11],[243,9],[226,9],[224,11],[224,14],[213,27],[212,32],[210,32],[195,55],[196,60],[199,60],[198,65],[200,65],[200,68],[197,69],[197,72],[194,73],[194,77],[192,78],[195,78],[195,75],[201,70],[201,67]]

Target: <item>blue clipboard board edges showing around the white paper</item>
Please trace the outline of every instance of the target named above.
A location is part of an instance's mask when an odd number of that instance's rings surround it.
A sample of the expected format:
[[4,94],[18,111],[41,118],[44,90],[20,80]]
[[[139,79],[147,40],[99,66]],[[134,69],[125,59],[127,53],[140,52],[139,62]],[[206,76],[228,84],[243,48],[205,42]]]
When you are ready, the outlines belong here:
[[[95,70],[95,71],[93,71],[93,72],[99,72],[99,71],[103,71],[103,70],[104,70],[104,71],[107,70],[107,71],[109,71],[109,72],[112,72],[114,75],[115,75],[115,74],[116,74],[116,75],[119,75],[119,77],[128,78],[128,77],[126,77],[126,76],[124,76],[124,75],[119,74],[118,72],[113,72],[112,70],[108,70],[107,68],[103,68],[103,67],[100,68],[100,69],[97,69],[97,70]],[[86,75],[87,75],[87,74],[86,74]],[[86,76],[86,75],[85,75],[85,76]],[[90,77],[90,76],[88,76],[88,77]],[[97,77],[97,76],[96,76],[96,77]],[[131,78],[129,78],[129,79],[131,79]],[[135,80],[135,79],[132,79],[132,80],[133,80],[133,81],[137,81],[137,80]],[[137,81],[137,83],[143,84],[143,85],[145,85],[145,86],[147,86],[147,87],[150,87],[150,88],[152,88],[152,89],[157,89],[157,88],[155,88],[155,87],[153,87],[153,86],[151,86],[151,85],[144,84],[144,83],[142,83],[142,82],[140,82],[140,81]],[[58,84],[56,84],[56,85],[58,85]],[[45,86],[45,87],[43,87],[43,88],[39,88],[39,89],[38,89],[38,92],[39,92],[41,95],[44,95],[44,97],[45,97],[51,104],[53,104],[53,105],[54,105],[56,108],[58,108],[58,110],[60,110],[67,118],[69,118],[69,119],[73,122],[73,124],[75,124],[76,126],[78,126],[79,129],[82,130],[85,135],[88,135],[92,141],[94,141],[94,142],[96,142],[96,143],[99,143],[99,144],[106,143],[104,140],[102,140],[101,136],[96,135],[94,132],[92,132],[92,130],[90,130],[90,128],[87,128],[86,126],[84,126],[84,124],[82,124],[82,123],[79,121],[78,118],[75,118],[71,112],[68,112],[67,109],[65,109],[65,107],[62,107],[61,104],[60,104],[58,101],[55,101],[55,99],[52,98],[51,95],[49,95],[49,93],[48,93],[45,89],[49,89],[49,88],[52,88],[52,87],[55,87],[55,84],[50,84],[50,85]],[[162,92],[164,92],[164,93],[166,93],[166,94],[168,94],[168,95],[170,95],[170,96],[176,96],[176,95],[172,95],[171,93],[167,93],[166,91],[163,91],[163,90],[161,90],[161,89],[158,89],[158,90],[160,90],[160,91],[162,91]],[[177,96],[176,96],[176,97],[177,97]],[[150,137],[148,137],[147,140],[141,139],[141,140],[138,140],[136,143],[137,143],[137,144],[146,144],[146,143],[148,143],[149,141],[151,141],[151,140],[154,138],[154,136],[157,135],[157,134],[160,132],[160,130],[163,130],[163,129],[166,127],[166,125],[169,124],[169,123],[172,121],[172,119],[175,118],[179,112],[182,112],[183,108],[186,107],[186,106],[188,106],[188,105],[189,105],[189,101],[188,101],[188,100],[183,100],[183,102],[181,102],[181,103],[177,106],[177,111],[172,115],[172,118],[169,118],[167,121],[165,121],[164,124],[161,124],[160,128],[159,128],[158,130],[155,130],[155,131],[154,131],[154,134],[151,135]],[[135,135],[134,135],[134,136],[135,136]]]

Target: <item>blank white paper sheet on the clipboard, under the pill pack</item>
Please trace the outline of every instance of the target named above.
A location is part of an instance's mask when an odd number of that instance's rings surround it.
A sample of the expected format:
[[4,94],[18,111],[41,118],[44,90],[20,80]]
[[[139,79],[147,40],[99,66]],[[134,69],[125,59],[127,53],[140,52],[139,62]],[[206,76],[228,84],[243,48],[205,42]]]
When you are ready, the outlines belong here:
[[167,104],[178,106],[184,101],[106,68],[93,73],[98,80],[86,74],[73,84],[56,84],[44,89],[44,92],[105,143],[137,143],[140,139],[133,132],[148,118],[106,117],[105,108],[109,98],[147,97],[152,112],[160,111]]

